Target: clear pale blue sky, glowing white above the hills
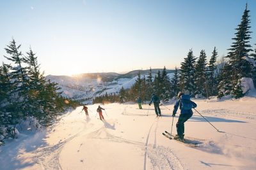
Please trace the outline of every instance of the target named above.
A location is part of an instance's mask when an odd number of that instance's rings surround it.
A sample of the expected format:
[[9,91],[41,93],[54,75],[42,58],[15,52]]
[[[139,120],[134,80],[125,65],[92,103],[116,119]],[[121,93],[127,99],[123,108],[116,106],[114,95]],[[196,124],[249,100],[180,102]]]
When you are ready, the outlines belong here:
[[0,0],[0,62],[14,38],[45,75],[173,69],[189,49],[226,55],[246,2],[253,45],[255,0]]

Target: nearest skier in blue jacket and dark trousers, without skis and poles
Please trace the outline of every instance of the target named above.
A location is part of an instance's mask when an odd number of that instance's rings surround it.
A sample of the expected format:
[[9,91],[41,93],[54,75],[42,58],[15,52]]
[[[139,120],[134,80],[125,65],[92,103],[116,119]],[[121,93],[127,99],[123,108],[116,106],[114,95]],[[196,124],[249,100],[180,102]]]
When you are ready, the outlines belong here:
[[179,92],[178,94],[178,101],[174,105],[173,114],[172,117],[175,117],[175,114],[180,107],[180,116],[179,120],[176,124],[177,127],[177,135],[175,136],[175,139],[179,139],[182,141],[184,139],[184,123],[192,117],[193,111],[192,108],[196,108],[196,103],[190,100],[189,91],[186,90],[185,94],[182,92]]

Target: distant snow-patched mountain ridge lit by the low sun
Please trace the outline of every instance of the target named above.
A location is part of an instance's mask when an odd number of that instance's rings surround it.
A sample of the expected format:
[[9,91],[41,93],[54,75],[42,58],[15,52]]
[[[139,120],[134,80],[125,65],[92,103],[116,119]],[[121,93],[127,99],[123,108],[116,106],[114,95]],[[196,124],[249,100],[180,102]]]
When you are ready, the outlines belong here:
[[[152,69],[152,75],[163,69]],[[166,70],[170,78],[174,70]],[[95,96],[103,94],[118,93],[122,87],[129,89],[138,78],[138,73],[141,76],[147,76],[148,70],[134,70],[125,74],[118,73],[83,73],[74,76],[46,76],[47,80],[58,83],[64,97],[69,97],[74,100],[79,100],[83,103],[92,103]]]

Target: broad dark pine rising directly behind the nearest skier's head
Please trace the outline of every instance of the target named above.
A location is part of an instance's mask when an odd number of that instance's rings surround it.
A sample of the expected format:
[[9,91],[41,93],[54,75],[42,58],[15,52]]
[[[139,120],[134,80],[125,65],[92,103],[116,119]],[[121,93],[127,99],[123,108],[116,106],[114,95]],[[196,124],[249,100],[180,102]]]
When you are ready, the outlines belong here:
[[195,63],[196,57],[193,55],[193,51],[189,50],[180,67],[180,89],[182,91],[189,90],[191,96],[195,94]]

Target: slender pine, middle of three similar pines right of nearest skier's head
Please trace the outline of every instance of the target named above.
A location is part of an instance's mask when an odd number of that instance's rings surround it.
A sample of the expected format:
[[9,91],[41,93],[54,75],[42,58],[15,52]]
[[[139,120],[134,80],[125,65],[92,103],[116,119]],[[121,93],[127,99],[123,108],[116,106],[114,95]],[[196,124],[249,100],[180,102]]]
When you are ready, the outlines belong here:
[[207,65],[207,61],[206,61],[206,54],[205,54],[205,50],[201,50],[200,52],[200,56],[198,61],[196,62],[196,66],[195,66],[195,84],[196,84],[196,91],[195,94],[198,97],[209,97],[208,96],[208,92],[207,92],[207,88],[206,88],[206,65]]

